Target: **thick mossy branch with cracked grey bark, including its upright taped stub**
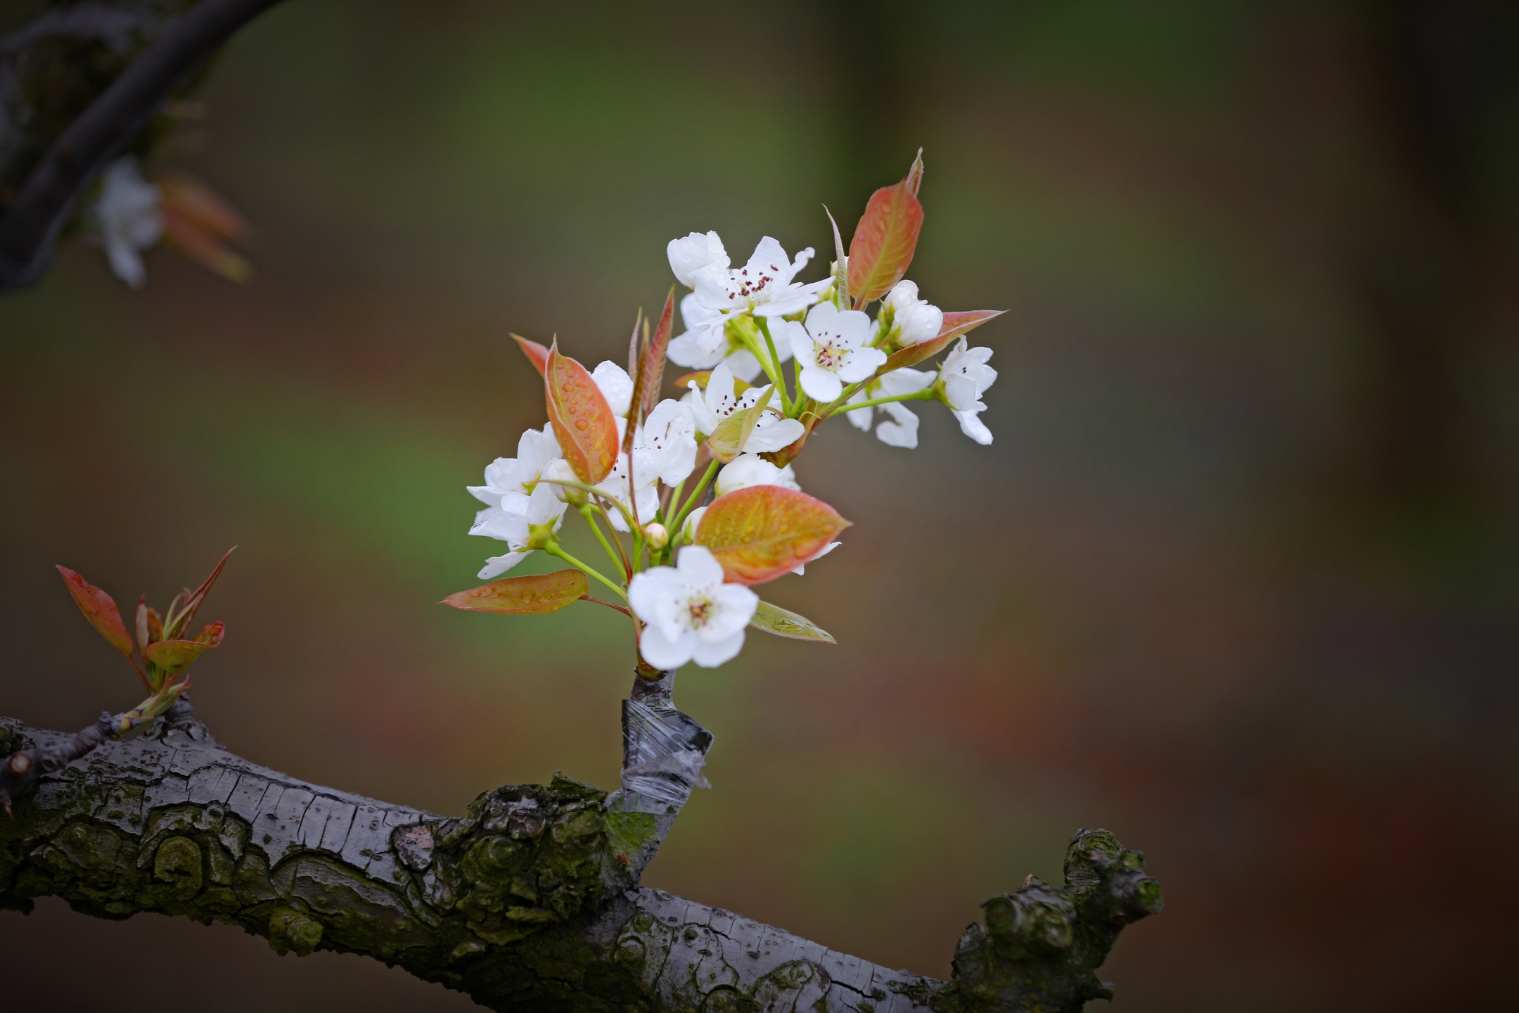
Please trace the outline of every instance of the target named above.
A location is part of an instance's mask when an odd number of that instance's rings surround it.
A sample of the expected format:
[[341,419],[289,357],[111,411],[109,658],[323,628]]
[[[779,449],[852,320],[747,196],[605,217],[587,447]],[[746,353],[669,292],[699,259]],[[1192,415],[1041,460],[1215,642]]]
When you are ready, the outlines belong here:
[[[1066,887],[1030,876],[987,901],[951,981],[639,887],[699,778],[688,753],[711,743],[670,705],[671,680],[635,679],[623,790],[556,775],[486,791],[460,817],[260,767],[182,708],[20,788],[0,822],[0,907],[59,896],[97,917],[229,922],[279,952],[374,957],[495,1010],[971,1013],[1110,995],[1094,970],[1161,898],[1106,831],[1072,838]],[[0,755],[68,738],[0,718]]]

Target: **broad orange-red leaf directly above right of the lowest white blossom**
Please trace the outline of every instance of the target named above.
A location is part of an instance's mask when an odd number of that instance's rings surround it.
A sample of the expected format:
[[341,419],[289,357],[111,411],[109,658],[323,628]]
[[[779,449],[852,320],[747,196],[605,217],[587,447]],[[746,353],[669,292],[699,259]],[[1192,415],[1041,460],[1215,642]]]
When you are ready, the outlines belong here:
[[817,559],[849,521],[822,500],[781,486],[717,497],[696,529],[729,583],[764,583]]

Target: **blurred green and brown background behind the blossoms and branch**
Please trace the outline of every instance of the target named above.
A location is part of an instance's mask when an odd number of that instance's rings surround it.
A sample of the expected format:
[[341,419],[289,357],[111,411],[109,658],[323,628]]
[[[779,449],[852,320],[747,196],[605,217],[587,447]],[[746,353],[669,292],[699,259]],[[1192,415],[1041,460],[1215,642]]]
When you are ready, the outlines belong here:
[[[838,645],[682,673],[714,787],[646,881],[942,977],[1106,826],[1168,905],[1116,1008],[1514,1008],[1516,32],[1481,0],[286,3],[173,159],[257,226],[251,284],[159,251],[131,293],[74,243],[0,304],[0,711],[137,700],[53,563],[161,606],[238,544],[194,694],[235,752],[445,814],[615,787],[621,617],[436,604],[495,551],[465,484],[542,422],[506,334],[626,355],[693,229],[826,264],[820,205],[848,232],[922,144],[911,276],[1012,310],[975,334],[996,442],[927,406],[916,451],[808,445],[855,527],[766,597]],[[58,901],[0,939],[36,1008],[471,1008]]]

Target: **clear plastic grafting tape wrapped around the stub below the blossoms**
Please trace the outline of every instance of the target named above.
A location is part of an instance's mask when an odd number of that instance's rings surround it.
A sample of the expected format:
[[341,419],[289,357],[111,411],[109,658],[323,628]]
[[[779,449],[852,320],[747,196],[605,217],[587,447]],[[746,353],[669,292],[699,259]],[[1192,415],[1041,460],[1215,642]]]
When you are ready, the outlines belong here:
[[[655,700],[659,700],[655,696]],[[623,700],[623,800],[633,813],[676,814],[702,776],[712,734],[673,706]]]

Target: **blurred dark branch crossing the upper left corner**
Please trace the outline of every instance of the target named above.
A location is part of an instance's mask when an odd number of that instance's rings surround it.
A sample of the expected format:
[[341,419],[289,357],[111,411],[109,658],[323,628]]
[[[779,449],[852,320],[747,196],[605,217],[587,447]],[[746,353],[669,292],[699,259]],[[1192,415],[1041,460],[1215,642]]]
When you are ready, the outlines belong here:
[[[0,295],[35,284],[84,188],[137,137],[164,102],[254,17],[278,0],[201,0],[173,20],[172,3],[85,3],[46,9],[0,39],[0,179],[18,179],[0,193]],[[150,39],[143,44],[144,35]],[[131,62],[111,73],[112,58]],[[65,125],[39,115],[50,94],[85,96],[88,105]],[[46,146],[46,147],[44,147]],[[29,153],[44,147],[30,166]],[[14,173],[24,169],[24,178]]]

